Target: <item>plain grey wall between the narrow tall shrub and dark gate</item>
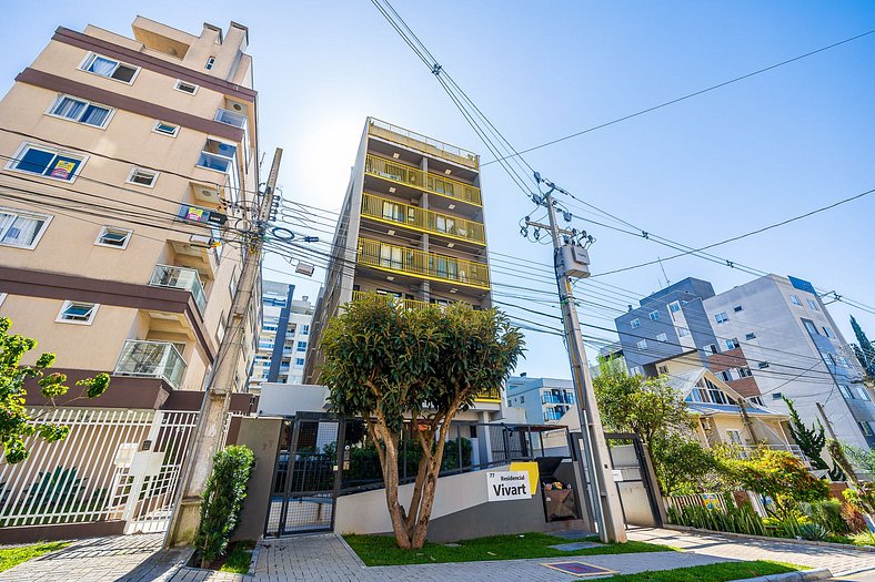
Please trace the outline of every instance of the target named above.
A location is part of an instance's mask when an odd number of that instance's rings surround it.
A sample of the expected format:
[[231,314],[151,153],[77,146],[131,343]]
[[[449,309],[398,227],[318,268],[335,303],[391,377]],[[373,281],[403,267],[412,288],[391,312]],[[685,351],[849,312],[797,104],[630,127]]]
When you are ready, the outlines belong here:
[[247,499],[234,540],[257,540],[264,533],[276,447],[282,430],[281,418],[241,418],[237,445],[245,445],[255,453],[255,468],[247,486]]

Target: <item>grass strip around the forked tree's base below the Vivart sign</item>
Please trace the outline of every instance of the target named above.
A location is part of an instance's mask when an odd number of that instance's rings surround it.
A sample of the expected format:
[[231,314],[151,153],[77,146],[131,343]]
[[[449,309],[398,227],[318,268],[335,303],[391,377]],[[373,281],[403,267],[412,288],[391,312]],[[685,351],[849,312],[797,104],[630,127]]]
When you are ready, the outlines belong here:
[[[444,562],[481,562],[486,560],[520,560],[523,558],[567,558],[611,553],[638,553],[674,551],[674,548],[655,543],[609,543],[601,548],[589,548],[574,552],[554,550],[550,545],[569,543],[547,533],[521,535],[491,535],[459,542],[459,548],[442,543],[425,542],[421,550],[401,550],[395,539],[389,535],[344,535],[344,540],[368,565],[429,564]],[[581,541],[599,541],[596,535]],[[697,581],[702,582],[702,581]]]

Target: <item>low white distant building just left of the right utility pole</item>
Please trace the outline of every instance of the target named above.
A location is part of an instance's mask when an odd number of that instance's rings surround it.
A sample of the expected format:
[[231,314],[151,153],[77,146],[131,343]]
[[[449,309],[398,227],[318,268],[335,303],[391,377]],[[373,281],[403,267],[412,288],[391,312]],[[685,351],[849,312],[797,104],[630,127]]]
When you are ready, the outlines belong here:
[[525,421],[533,425],[554,423],[575,408],[574,384],[559,378],[507,379],[507,406],[525,410]]

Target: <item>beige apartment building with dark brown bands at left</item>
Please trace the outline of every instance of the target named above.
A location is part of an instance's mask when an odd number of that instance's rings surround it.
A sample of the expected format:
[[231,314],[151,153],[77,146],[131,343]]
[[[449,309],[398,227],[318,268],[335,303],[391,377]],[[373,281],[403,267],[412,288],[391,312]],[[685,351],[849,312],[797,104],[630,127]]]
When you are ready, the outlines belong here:
[[[74,468],[87,478],[82,494],[103,500],[99,520],[163,519],[124,491],[172,489],[184,443],[168,445],[165,432],[193,426],[225,331],[241,270],[233,227],[259,184],[248,41],[233,22],[190,34],[137,17],[132,38],[59,28],[0,101],[0,314],[39,351],[56,353],[71,384],[112,374],[108,394],[63,411],[91,437],[77,440],[74,428],[56,448],[34,446],[21,466],[44,467],[3,469],[0,513],[24,511],[21,491],[39,471]],[[247,318],[241,391],[258,309]],[[33,392],[29,404],[43,404]],[[139,428],[99,440],[100,427],[134,416]],[[114,462],[88,460],[94,447]]]

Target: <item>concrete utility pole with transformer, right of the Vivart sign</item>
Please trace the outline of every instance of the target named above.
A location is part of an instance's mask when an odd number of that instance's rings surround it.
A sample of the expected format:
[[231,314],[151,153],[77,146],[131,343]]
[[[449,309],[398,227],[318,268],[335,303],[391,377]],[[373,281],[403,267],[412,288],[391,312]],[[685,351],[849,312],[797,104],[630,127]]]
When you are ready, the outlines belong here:
[[[625,542],[626,529],[623,522],[623,509],[620,506],[620,493],[614,483],[613,467],[611,457],[607,452],[607,445],[604,438],[602,419],[599,416],[599,406],[595,401],[595,391],[590,378],[590,367],[586,364],[586,351],[581,337],[581,323],[577,319],[577,309],[574,305],[574,294],[569,278],[569,266],[565,264],[563,249],[565,253],[574,251],[571,243],[563,241],[563,235],[572,233],[560,228],[556,225],[556,208],[553,205],[552,194],[556,190],[555,184],[542,180],[535,174],[539,183],[543,182],[550,191],[543,196],[541,203],[546,206],[550,216],[550,232],[553,237],[553,258],[556,270],[556,284],[559,286],[560,304],[562,305],[562,323],[565,328],[565,341],[569,348],[569,361],[571,363],[572,379],[574,380],[574,391],[577,395],[577,415],[581,419],[581,432],[585,453],[590,457],[590,480],[591,487],[595,488],[593,499],[593,511],[599,523],[599,537],[603,542]],[[543,227],[536,223],[526,221],[533,226]],[[582,251],[582,247],[579,247]],[[587,261],[589,263],[589,261]],[[581,276],[587,276],[583,274]]]

